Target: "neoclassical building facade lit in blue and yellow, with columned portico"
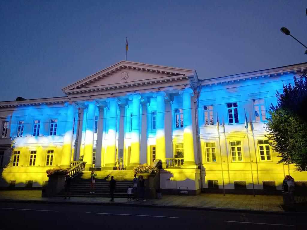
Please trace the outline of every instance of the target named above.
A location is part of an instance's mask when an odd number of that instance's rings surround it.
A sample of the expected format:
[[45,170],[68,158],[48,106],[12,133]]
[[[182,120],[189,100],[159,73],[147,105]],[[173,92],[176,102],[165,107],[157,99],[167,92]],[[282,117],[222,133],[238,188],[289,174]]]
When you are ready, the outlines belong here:
[[306,70],[301,63],[208,79],[121,61],[65,87],[63,97],[0,102],[1,186],[43,186],[47,169],[77,160],[103,175],[119,159],[126,170],[161,161],[165,191],[280,190],[287,174],[304,181],[306,172],[277,163],[265,122],[276,90]]

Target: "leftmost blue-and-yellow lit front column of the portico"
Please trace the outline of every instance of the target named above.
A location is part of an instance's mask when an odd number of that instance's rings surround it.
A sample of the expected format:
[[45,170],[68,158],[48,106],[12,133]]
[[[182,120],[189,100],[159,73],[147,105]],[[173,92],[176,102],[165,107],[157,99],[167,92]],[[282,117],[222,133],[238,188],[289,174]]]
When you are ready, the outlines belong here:
[[72,158],[72,134],[73,134],[73,120],[75,107],[67,104],[67,116],[65,122],[65,134],[62,149],[61,167],[70,167],[70,160]]

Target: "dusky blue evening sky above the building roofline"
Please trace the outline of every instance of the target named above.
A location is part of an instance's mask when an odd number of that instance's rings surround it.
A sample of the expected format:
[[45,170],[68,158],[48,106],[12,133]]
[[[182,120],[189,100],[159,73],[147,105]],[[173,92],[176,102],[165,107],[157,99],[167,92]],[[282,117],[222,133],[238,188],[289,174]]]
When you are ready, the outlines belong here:
[[61,89],[125,59],[221,77],[307,62],[307,2],[0,2],[0,101]]

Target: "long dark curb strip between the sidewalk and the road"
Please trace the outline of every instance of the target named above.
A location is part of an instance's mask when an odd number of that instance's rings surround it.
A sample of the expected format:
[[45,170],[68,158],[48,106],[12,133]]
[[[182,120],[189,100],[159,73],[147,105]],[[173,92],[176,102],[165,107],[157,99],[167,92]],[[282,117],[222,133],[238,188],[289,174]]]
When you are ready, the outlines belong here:
[[130,207],[148,207],[148,208],[169,208],[169,209],[189,209],[189,210],[206,210],[206,211],[230,211],[230,212],[248,212],[256,214],[303,214],[305,212],[287,212],[287,211],[266,211],[266,210],[254,210],[254,209],[232,209],[232,208],[216,208],[216,207],[200,207],[200,206],[184,206],[184,205],[161,205],[161,204],[135,204],[135,203],[123,203],[123,202],[80,202],[80,201],[38,201],[38,200],[12,200],[1,199],[0,202],[7,203],[36,203],[36,204],[69,204],[69,205],[104,205],[104,206],[130,206]]

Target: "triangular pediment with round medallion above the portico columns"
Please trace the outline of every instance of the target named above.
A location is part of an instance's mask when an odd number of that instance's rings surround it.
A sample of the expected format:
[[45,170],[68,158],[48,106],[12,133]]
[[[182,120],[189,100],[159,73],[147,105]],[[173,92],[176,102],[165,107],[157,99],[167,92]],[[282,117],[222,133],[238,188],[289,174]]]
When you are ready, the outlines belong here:
[[173,67],[121,61],[63,88],[65,94],[117,90],[177,80],[197,81],[196,71]]

